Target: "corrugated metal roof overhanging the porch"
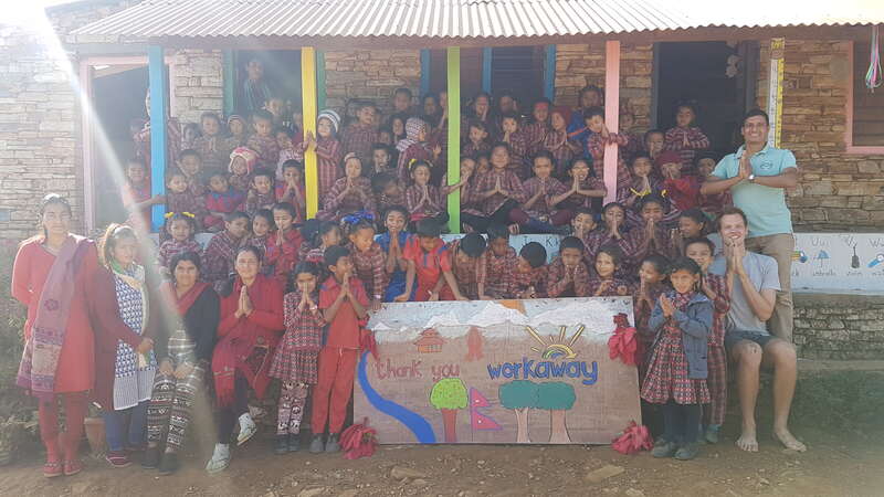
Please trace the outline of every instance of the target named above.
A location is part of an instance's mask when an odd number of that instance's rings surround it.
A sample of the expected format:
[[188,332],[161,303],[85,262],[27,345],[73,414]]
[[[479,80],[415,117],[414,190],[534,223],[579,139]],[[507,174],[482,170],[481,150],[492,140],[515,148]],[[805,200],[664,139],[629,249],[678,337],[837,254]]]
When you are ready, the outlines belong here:
[[884,22],[880,0],[753,1],[737,10],[714,0],[147,0],[74,34],[488,39]]

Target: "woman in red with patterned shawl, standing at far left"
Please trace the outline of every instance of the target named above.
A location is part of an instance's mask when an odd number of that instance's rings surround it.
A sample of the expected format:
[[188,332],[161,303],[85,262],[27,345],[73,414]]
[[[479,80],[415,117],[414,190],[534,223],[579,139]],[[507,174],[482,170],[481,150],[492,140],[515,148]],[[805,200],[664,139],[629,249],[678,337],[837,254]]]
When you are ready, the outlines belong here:
[[[43,474],[54,477],[82,469],[77,447],[87,392],[95,385],[96,331],[117,334],[139,352],[152,342],[119,320],[113,278],[99,267],[95,244],[69,232],[67,201],[46,195],[40,216],[43,234],[21,244],[12,269],[12,296],[28,307],[17,384],[40,400]],[[57,398],[65,410],[66,431],[61,436]]]

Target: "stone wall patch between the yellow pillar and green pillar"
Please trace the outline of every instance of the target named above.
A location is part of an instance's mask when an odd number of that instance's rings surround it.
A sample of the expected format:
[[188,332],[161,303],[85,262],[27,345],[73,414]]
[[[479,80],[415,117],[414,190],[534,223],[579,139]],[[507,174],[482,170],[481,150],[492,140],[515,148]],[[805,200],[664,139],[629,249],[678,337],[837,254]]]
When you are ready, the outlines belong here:
[[389,114],[393,91],[399,87],[411,89],[417,104],[420,83],[421,55],[418,50],[325,53],[326,106],[337,110],[343,110],[348,99],[368,98]]

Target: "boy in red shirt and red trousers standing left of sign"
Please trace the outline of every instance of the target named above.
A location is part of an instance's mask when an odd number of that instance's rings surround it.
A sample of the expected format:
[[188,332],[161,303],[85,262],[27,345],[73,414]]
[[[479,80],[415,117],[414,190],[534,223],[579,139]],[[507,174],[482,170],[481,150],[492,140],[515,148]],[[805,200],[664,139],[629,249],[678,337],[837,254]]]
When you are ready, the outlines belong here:
[[[352,393],[359,343],[368,311],[365,286],[352,274],[350,251],[330,246],[324,264],[332,276],[319,288],[319,309],[328,322],[328,335],[318,357],[318,379],[313,391],[313,441],[311,453],[340,451],[340,430],[347,417],[347,404]],[[323,434],[328,426],[328,440]]]

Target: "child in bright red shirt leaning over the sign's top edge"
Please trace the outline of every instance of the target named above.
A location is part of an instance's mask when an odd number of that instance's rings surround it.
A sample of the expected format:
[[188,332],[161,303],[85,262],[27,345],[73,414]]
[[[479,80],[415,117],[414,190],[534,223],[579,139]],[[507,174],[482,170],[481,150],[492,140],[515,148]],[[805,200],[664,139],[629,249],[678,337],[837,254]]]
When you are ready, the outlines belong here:
[[425,219],[418,222],[415,233],[417,235],[409,239],[402,251],[403,258],[408,261],[406,292],[396,297],[396,302],[408,302],[415,277],[418,285],[414,293],[415,302],[439,300],[442,287],[446,284],[455,299],[466,300],[467,298],[461,295],[452,272],[451,250],[439,236],[442,226],[431,219]]

